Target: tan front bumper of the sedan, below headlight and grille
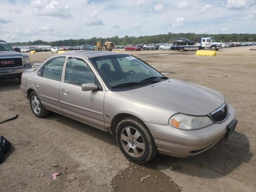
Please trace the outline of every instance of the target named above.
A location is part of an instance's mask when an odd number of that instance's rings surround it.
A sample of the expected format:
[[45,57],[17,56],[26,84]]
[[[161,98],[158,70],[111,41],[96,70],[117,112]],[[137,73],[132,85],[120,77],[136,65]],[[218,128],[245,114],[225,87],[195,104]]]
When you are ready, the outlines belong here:
[[189,157],[200,154],[214,146],[227,132],[227,125],[236,118],[232,106],[228,106],[228,118],[198,130],[180,130],[170,125],[147,123],[154,137],[158,151],[177,157]]

